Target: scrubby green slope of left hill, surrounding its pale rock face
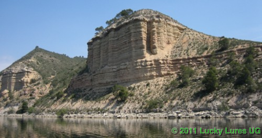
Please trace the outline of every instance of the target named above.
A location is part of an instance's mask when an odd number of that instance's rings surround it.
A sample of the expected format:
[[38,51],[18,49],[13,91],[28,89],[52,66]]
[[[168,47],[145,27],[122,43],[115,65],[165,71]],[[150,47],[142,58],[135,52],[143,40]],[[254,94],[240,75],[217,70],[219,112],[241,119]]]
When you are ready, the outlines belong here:
[[[50,52],[37,46],[8,68],[17,64],[25,64],[37,71],[41,78],[32,79],[30,85],[20,91],[9,92],[8,98],[1,97],[1,107],[13,106],[22,101],[28,101],[29,105],[32,105],[36,99],[46,94],[50,97],[59,95],[59,92],[63,92],[68,87],[70,80],[85,69],[85,62],[84,57],[70,58],[65,54]],[[27,93],[21,94],[23,92]]]

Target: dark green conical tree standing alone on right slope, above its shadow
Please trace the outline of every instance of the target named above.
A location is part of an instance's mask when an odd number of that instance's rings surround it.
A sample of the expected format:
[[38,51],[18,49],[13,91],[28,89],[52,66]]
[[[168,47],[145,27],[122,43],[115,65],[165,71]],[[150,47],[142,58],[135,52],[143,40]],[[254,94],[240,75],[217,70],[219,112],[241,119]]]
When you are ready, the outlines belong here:
[[212,92],[215,91],[218,87],[218,80],[217,80],[217,70],[215,67],[210,67],[209,71],[206,73],[202,83],[205,86],[206,91]]

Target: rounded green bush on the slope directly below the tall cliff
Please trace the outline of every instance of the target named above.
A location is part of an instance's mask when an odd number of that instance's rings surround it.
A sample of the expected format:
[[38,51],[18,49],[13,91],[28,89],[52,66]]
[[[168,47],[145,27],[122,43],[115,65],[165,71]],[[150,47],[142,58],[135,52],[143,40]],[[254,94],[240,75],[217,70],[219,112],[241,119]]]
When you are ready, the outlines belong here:
[[121,101],[125,101],[129,95],[127,88],[118,84],[113,86],[112,91],[113,94],[117,98],[120,98]]

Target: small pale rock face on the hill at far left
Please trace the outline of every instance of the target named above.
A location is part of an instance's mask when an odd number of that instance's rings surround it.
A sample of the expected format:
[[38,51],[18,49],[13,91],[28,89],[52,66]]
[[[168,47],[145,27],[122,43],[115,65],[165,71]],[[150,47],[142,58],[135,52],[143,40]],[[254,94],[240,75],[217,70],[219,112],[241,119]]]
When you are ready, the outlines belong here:
[[31,79],[38,79],[39,74],[32,68],[27,67],[23,63],[16,63],[12,67],[3,70],[1,92],[8,90],[20,90],[24,86],[28,86]]

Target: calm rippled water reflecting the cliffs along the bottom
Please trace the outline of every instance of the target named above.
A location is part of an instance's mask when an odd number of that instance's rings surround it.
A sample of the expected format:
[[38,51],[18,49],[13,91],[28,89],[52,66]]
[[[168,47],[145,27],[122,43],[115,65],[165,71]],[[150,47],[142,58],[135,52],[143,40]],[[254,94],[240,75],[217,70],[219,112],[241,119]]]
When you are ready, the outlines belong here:
[[[196,128],[197,134],[173,134],[176,127]],[[0,137],[221,137],[200,134],[202,129],[223,129],[222,137],[262,137],[249,134],[261,128],[261,118],[232,119],[62,119],[0,117]],[[247,134],[225,134],[228,129],[247,129]],[[178,133],[180,130],[178,130]],[[204,132],[204,130],[203,130]],[[193,132],[192,132],[193,133]]]

